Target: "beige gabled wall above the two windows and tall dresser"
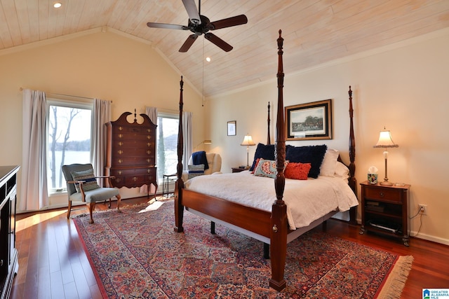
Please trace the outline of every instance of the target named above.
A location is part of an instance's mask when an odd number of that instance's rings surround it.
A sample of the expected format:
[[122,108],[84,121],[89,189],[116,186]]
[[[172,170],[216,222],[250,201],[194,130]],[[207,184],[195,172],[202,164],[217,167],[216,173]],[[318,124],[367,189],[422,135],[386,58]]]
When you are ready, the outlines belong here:
[[[185,78],[187,81],[188,78]],[[0,52],[0,165],[22,165],[20,88],[112,100],[112,120],[145,106],[178,113],[180,74],[148,43],[115,32],[91,30]],[[192,111],[195,142],[203,140],[202,99],[185,82],[185,111]],[[18,197],[20,198],[20,176]],[[161,183],[161,182],[160,182]],[[138,188],[122,198],[142,196]],[[67,205],[67,195],[51,205]]]

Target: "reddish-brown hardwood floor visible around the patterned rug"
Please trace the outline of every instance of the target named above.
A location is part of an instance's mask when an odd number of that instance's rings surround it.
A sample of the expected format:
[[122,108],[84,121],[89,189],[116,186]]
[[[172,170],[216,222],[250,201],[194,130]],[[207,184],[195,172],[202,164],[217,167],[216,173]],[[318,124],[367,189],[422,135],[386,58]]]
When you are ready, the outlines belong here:
[[[147,202],[147,198],[121,202],[124,207]],[[96,211],[104,209],[107,204],[95,207]],[[85,206],[72,209],[72,215],[86,212]],[[102,298],[74,223],[66,215],[67,209],[57,209],[17,216],[19,271],[11,298]],[[422,298],[422,288],[449,288],[449,246],[411,238],[406,247],[396,239],[359,235],[359,228],[337,220],[327,225],[332,235],[415,258],[401,298]]]

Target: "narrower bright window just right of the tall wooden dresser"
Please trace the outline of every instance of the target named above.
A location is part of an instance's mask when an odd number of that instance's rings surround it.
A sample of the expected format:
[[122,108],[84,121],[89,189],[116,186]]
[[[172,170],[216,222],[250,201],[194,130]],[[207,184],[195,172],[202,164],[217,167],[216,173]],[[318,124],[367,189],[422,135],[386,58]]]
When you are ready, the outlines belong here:
[[175,174],[177,165],[177,127],[179,116],[170,113],[158,113],[156,130],[157,179],[162,181],[163,174]]

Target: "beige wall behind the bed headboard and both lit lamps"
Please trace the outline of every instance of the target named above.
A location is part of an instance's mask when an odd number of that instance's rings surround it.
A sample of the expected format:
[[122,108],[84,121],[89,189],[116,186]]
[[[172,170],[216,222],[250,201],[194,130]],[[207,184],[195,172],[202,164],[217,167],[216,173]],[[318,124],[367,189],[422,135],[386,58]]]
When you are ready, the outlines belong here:
[[[288,40],[284,41],[288,43]],[[276,48],[276,43],[273,43]],[[276,51],[273,51],[276,55]],[[356,138],[356,178],[366,181],[368,167],[380,169],[384,177],[381,148],[373,148],[379,132],[391,130],[399,145],[389,151],[390,181],[410,183],[410,216],[417,204],[427,204],[427,216],[414,218],[411,235],[449,244],[449,191],[445,188],[449,169],[449,31],[434,32],[418,39],[332,62],[301,74],[286,74],[285,106],[333,99],[333,140],[288,141],[287,144],[323,144],[337,148],[348,161],[348,87],[352,86]],[[284,53],[284,57],[288,53]],[[275,74],[276,69],[274,69]],[[277,99],[274,80],[228,95],[211,97],[210,138],[214,151],[223,158],[222,171],[246,164],[246,148],[239,146],[249,132],[265,143],[267,102]],[[237,121],[237,136],[226,136],[228,120]],[[276,122],[272,113],[272,126]],[[272,133],[274,141],[274,133]],[[254,155],[255,146],[250,148]],[[250,158],[251,159],[251,158]],[[360,191],[360,188],[359,188]],[[360,192],[358,193],[360,196]],[[360,211],[358,212],[360,218]],[[413,241],[411,242],[413,246]]]

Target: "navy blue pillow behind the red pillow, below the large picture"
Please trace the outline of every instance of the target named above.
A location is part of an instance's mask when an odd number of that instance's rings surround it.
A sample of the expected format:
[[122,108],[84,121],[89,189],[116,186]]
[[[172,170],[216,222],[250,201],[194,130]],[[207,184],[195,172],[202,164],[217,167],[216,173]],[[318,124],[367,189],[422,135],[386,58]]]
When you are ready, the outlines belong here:
[[309,177],[316,179],[320,174],[321,162],[328,146],[286,146],[288,162],[310,163]]

